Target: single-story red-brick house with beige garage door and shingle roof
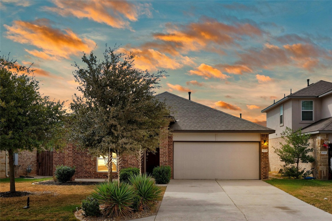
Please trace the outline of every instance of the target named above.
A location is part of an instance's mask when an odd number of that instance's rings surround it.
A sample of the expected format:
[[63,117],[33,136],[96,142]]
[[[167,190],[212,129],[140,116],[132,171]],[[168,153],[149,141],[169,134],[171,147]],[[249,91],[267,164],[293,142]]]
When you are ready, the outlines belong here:
[[[172,179],[268,179],[268,138],[275,130],[169,92],[156,97],[172,107],[172,135],[155,154],[145,153],[143,171],[169,165]],[[135,156],[123,158],[124,167],[138,167]],[[92,158],[72,145],[53,152],[53,174],[57,165],[75,166],[76,179],[107,178],[102,157]]]

